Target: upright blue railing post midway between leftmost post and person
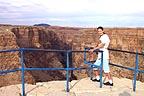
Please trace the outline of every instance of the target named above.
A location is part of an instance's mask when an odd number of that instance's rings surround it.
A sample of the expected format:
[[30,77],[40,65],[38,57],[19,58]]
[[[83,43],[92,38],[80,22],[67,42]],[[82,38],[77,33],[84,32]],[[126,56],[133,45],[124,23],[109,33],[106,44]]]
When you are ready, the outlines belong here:
[[66,52],[66,92],[69,92],[69,51]]

